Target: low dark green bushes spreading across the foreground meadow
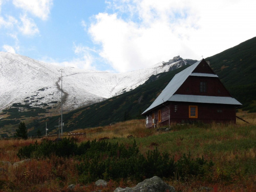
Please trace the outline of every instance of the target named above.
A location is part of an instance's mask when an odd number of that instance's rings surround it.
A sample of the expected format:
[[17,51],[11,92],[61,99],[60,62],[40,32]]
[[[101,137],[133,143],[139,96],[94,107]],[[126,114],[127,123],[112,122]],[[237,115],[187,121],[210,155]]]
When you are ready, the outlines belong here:
[[[67,158],[75,156],[79,163],[76,168],[81,183],[90,183],[97,179],[127,179],[141,181],[153,176],[183,179],[204,176],[213,165],[204,158],[191,158],[190,153],[175,162],[168,153],[160,153],[156,148],[146,155],[139,152],[134,141],[130,146],[111,143],[106,140],[82,142],[78,146],[72,139],[52,142],[44,140],[40,144],[30,144],[20,148],[19,158],[46,158],[56,155]],[[174,174],[176,173],[176,174]]]

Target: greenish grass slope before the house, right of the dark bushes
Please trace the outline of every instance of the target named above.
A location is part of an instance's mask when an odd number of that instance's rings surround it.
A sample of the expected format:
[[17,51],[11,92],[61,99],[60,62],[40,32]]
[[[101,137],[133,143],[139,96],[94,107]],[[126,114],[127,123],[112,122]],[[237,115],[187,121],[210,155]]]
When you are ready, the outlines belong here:
[[[146,153],[158,144],[160,152],[168,152],[176,159],[190,152],[193,158],[204,156],[216,163],[216,170],[225,170],[226,180],[231,180],[238,172],[244,176],[256,174],[256,126],[214,125],[196,127],[184,125],[174,131],[145,138],[135,138],[141,152]],[[133,139],[118,138],[120,143],[133,142]]]

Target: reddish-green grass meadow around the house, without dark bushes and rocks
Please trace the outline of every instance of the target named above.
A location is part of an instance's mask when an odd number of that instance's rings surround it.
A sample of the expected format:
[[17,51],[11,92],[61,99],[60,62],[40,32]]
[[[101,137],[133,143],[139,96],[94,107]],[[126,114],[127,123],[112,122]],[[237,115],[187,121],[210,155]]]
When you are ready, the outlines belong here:
[[[203,177],[185,176],[163,178],[176,191],[255,191],[256,187],[256,114],[239,112],[237,114],[250,124],[237,120],[237,124],[194,124],[173,125],[169,132],[146,129],[144,120],[130,120],[114,125],[76,130],[86,133],[73,137],[79,145],[82,142],[104,139],[111,143],[132,146],[136,141],[141,154],[157,147],[160,153],[167,152],[174,161],[181,160],[183,154],[191,158],[203,157],[214,165]],[[53,138],[51,138],[53,140]],[[11,164],[23,160],[17,156],[20,148],[41,143],[42,139],[0,140],[0,161]],[[83,183],[76,156],[58,157],[52,154],[45,158],[31,158],[31,161],[9,166],[0,163],[0,191],[69,191],[67,187],[75,184],[74,191],[114,191],[115,188],[133,187],[138,180],[128,177],[108,178],[108,186],[97,187],[94,182]],[[205,188],[208,187],[208,188]]]

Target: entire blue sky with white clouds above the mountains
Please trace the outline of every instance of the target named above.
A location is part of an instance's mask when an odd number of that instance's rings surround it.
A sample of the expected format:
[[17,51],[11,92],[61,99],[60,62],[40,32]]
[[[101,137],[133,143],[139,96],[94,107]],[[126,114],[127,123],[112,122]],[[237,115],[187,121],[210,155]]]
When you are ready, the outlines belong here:
[[123,73],[256,36],[255,0],[0,0],[0,51]]

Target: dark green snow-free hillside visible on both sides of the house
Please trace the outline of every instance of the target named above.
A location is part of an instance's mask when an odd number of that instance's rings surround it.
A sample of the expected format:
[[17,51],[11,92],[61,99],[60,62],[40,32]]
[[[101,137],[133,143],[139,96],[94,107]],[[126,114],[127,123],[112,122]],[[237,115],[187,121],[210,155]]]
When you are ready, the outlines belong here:
[[[242,109],[249,110],[249,112],[256,110],[255,54],[256,37],[206,58],[206,60],[210,61],[211,68],[220,77],[231,95],[243,104]],[[140,114],[154,101],[174,75],[186,67],[188,66],[152,75],[144,84],[134,90],[64,114],[64,131],[68,132],[142,118]],[[32,112],[35,114],[25,114],[19,112],[18,109],[5,111],[6,116],[7,114],[11,116],[7,119],[2,119],[0,123],[7,120],[12,121],[10,123],[14,127],[19,120],[13,120],[13,118],[19,117],[27,122],[31,135],[36,135],[38,130],[44,133],[46,122],[50,133],[57,132],[57,128],[54,126],[58,124],[59,116],[42,115],[42,112],[37,112],[36,109],[31,110]],[[37,117],[38,115],[42,115],[42,117],[27,118],[29,116]],[[10,134],[10,131],[6,130],[6,133]]]

